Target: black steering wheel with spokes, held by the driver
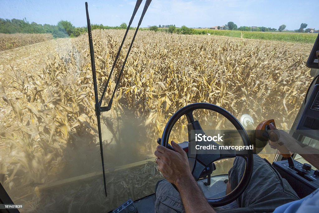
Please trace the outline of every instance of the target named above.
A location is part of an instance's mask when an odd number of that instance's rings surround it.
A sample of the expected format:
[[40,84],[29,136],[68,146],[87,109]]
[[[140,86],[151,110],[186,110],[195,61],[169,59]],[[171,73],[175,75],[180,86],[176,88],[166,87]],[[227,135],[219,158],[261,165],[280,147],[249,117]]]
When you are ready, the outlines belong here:
[[[245,146],[251,145],[249,137],[244,130],[244,128],[241,126],[240,122],[228,111],[225,109],[216,106],[211,103],[193,103],[189,104],[182,109],[178,110],[175,112],[175,114],[169,119],[167,122],[162,139],[161,139],[161,145],[165,146],[166,148],[169,146],[168,144],[168,139],[169,135],[172,131],[172,128],[176,121],[181,118],[183,115],[186,116],[187,121],[188,121],[188,134],[189,134],[189,139],[190,137],[190,130],[195,130],[197,133],[202,133],[204,134],[204,131],[202,127],[200,126],[199,122],[194,120],[193,116],[193,111],[198,110],[198,109],[205,109],[205,110],[212,110],[215,111],[221,115],[223,115],[225,118],[227,118],[238,131],[241,139],[244,143]],[[190,142],[190,141],[189,141]],[[224,197],[221,198],[214,198],[214,199],[208,199],[206,198],[207,202],[209,202],[212,206],[218,207],[218,206],[224,206],[228,203],[233,202],[235,199],[237,199],[246,189],[246,187],[249,184],[249,181],[252,176],[252,171],[253,171],[253,152],[252,150],[245,150],[245,153],[242,151],[236,151],[236,150],[231,150],[229,153],[225,154],[225,150],[221,153],[219,150],[219,144],[211,141],[211,143],[217,148],[213,150],[214,154],[197,154],[197,153],[189,153],[188,160],[189,160],[189,169],[192,172],[193,177],[197,181],[201,175],[201,173],[204,171],[204,169],[209,166],[211,163],[224,159],[224,158],[232,158],[235,156],[240,156],[245,159],[246,162],[246,167],[245,167],[245,172],[243,174],[243,177],[237,187],[229,194],[227,194]],[[248,152],[247,152],[248,151]]]

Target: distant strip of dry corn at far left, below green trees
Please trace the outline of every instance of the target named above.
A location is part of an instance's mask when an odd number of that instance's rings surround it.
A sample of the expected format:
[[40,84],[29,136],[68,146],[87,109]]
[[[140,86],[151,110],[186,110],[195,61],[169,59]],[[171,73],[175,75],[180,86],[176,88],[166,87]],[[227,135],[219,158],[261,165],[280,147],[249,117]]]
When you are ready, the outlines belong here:
[[4,34],[0,33],[0,51],[22,47],[53,39],[51,34]]

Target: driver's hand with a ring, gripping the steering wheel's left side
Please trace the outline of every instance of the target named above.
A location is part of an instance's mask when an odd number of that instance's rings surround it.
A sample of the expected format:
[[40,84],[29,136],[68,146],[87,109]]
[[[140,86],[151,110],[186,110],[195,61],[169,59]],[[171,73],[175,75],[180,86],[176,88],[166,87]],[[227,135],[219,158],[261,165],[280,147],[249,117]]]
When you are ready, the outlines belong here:
[[154,155],[159,158],[157,160],[158,169],[164,178],[178,186],[181,180],[192,177],[192,174],[189,170],[186,152],[174,141],[172,141],[172,146],[175,151],[164,146],[157,146]]

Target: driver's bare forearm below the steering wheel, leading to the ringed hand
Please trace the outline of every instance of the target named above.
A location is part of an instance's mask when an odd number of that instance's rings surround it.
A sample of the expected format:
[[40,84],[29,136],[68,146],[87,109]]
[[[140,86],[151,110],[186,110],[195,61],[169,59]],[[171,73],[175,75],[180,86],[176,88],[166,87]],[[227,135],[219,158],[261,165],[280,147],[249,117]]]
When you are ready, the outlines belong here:
[[206,201],[203,192],[200,190],[197,182],[192,176],[185,177],[183,180],[177,182],[176,186],[180,192],[186,213],[215,213],[214,209]]

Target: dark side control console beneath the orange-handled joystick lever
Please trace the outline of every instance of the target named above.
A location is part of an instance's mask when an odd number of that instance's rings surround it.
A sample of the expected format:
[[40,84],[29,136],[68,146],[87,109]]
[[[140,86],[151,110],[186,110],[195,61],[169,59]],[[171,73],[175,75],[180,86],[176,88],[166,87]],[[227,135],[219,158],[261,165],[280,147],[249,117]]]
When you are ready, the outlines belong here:
[[301,164],[296,160],[293,160],[293,164],[294,168],[289,167],[287,160],[272,163],[300,198],[319,188],[319,170],[313,170],[310,164]]

